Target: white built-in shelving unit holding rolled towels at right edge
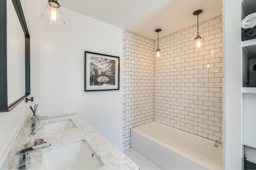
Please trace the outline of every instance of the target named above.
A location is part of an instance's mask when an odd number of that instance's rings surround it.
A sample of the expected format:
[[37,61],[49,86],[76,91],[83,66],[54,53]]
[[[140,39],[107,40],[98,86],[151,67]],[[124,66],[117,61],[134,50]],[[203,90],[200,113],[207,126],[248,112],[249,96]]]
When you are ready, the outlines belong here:
[[[241,20],[256,12],[256,0],[242,0]],[[242,29],[241,29],[242,31]],[[256,148],[256,87],[249,87],[250,71],[256,64],[256,39],[241,42],[242,48],[242,144]]]

